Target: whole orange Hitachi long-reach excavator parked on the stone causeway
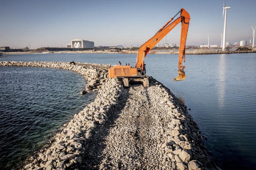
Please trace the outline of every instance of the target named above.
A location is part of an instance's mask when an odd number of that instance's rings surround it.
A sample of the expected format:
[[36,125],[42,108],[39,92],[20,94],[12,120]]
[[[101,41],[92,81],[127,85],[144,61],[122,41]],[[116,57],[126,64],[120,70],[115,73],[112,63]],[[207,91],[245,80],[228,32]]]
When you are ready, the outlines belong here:
[[[173,19],[179,14],[181,15],[173,21]],[[173,21],[171,23],[171,21]],[[186,78],[184,68],[182,65],[185,63],[185,46],[187,40],[187,34],[189,29],[190,15],[185,9],[181,9],[173,18],[168,21],[164,27],[162,27],[157,33],[140,46],[137,61],[135,67],[131,67],[129,64],[122,66],[119,62],[119,65],[110,67],[108,69],[108,75],[110,78],[122,77],[124,82],[124,87],[129,87],[129,81],[140,81],[143,83],[144,87],[149,87],[149,81],[146,76],[146,68],[144,64],[144,59],[148,52],[163,39],[166,34],[168,34],[173,28],[175,28],[179,23],[181,25],[181,39],[180,39],[180,48],[179,48],[179,69],[178,76],[173,79],[173,81],[182,81]]]

